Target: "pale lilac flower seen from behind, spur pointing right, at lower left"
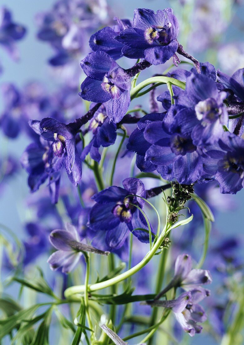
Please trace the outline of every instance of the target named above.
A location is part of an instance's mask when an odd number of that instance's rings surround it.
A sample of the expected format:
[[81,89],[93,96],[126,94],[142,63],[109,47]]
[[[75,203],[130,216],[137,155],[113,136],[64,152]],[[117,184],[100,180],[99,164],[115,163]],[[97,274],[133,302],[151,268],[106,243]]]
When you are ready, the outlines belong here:
[[62,267],[62,272],[68,274],[79,262],[82,252],[108,255],[109,252],[94,248],[80,242],[78,232],[70,223],[65,224],[65,230],[53,230],[49,236],[51,244],[58,249],[49,258],[52,270]]

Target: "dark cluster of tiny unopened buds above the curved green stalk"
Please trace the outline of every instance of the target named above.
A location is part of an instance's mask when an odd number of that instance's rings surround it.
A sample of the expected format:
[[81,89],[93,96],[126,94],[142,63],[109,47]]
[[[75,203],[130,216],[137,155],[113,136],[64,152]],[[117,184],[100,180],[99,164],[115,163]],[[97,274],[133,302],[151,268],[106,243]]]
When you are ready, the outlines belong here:
[[174,224],[179,219],[179,211],[185,206],[187,200],[190,200],[194,193],[194,184],[184,185],[175,181],[171,183],[173,188],[172,196],[167,197],[169,207],[169,223]]

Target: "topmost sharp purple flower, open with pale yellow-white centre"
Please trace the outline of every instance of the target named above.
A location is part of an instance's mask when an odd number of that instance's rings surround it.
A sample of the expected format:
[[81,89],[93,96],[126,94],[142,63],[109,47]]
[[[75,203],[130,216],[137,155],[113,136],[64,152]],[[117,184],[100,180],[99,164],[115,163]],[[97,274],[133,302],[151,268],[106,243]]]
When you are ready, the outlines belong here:
[[144,58],[152,65],[169,60],[178,48],[179,24],[171,8],[154,11],[134,10],[132,28],[120,32],[116,40],[124,44],[122,54],[129,58]]

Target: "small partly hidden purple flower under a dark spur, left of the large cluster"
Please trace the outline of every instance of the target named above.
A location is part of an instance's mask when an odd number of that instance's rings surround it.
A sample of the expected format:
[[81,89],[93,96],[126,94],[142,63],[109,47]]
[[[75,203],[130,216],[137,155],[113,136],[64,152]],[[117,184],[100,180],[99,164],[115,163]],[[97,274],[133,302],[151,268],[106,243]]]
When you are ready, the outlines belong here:
[[103,105],[95,112],[90,121],[88,130],[92,132],[93,138],[82,150],[81,158],[85,159],[85,156],[90,153],[91,158],[99,162],[101,159],[101,155],[99,153],[100,146],[108,147],[113,145],[117,136],[117,126],[114,122],[109,121]]

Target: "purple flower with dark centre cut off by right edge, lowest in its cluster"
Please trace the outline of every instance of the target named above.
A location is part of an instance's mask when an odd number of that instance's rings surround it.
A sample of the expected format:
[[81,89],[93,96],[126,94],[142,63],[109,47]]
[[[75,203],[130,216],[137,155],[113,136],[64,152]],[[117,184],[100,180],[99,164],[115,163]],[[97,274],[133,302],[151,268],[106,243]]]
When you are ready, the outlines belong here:
[[205,179],[215,179],[221,193],[236,194],[244,186],[244,141],[223,132],[216,144],[206,147],[203,157]]

